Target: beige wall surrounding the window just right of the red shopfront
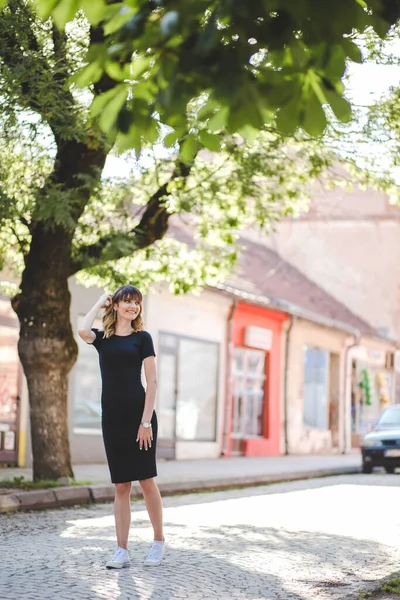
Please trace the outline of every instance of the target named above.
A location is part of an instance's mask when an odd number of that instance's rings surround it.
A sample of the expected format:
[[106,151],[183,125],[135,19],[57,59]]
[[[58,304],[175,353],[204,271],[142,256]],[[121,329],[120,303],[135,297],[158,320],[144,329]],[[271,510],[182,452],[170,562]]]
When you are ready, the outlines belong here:
[[[288,450],[289,454],[329,452],[331,432],[304,424],[304,347],[311,346],[339,356],[339,450],[343,450],[344,428],[344,356],[348,336],[303,319],[295,319],[289,338],[288,352]],[[287,342],[286,342],[287,343]],[[328,394],[329,404],[329,394]]]

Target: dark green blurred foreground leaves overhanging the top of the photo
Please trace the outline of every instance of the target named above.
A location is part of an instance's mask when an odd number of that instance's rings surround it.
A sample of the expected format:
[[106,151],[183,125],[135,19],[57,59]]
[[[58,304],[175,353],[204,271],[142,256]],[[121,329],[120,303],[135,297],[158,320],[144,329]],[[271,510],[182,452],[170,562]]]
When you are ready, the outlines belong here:
[[330,107],[350,118],[346,61],[361,61],[353,37],[384,37],[399,0],[35,0],[63,29],[82,11],[92,26],[76,86],[98,91],[92,115],[121,147],[180,145],[217,150],[220,133],[252,136],[324,130]]

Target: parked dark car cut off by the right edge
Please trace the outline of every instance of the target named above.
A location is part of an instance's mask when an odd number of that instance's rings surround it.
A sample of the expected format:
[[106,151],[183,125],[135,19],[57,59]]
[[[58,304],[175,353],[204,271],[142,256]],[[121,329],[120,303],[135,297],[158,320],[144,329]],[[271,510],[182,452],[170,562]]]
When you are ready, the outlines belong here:
[[363,437],[361,452],[363,473],[372,473],[374,467],[394,473],[400,467],[400,404],[382,412],[372,431]]

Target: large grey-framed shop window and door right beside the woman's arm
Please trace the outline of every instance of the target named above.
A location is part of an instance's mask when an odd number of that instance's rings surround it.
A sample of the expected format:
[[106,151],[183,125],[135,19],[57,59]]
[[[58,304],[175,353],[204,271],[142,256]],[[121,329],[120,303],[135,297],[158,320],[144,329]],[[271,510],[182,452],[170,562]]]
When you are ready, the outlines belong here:
[[157,413],[162,440],[215,441],[219,345],[160,334]]

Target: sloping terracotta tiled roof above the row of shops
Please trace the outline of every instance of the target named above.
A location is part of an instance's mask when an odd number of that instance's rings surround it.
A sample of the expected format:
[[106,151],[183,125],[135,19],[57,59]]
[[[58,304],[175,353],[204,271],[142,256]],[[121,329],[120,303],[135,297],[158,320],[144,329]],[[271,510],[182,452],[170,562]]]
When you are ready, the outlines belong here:
[[382,337],[369,323],[351,312],[279,254],[249,240],[242,239],[242,243],[245,249],[239,257],[236,273],[225,282],[228,286],[250,294],[284,300],[311,313],[358,329],[361,333]]

